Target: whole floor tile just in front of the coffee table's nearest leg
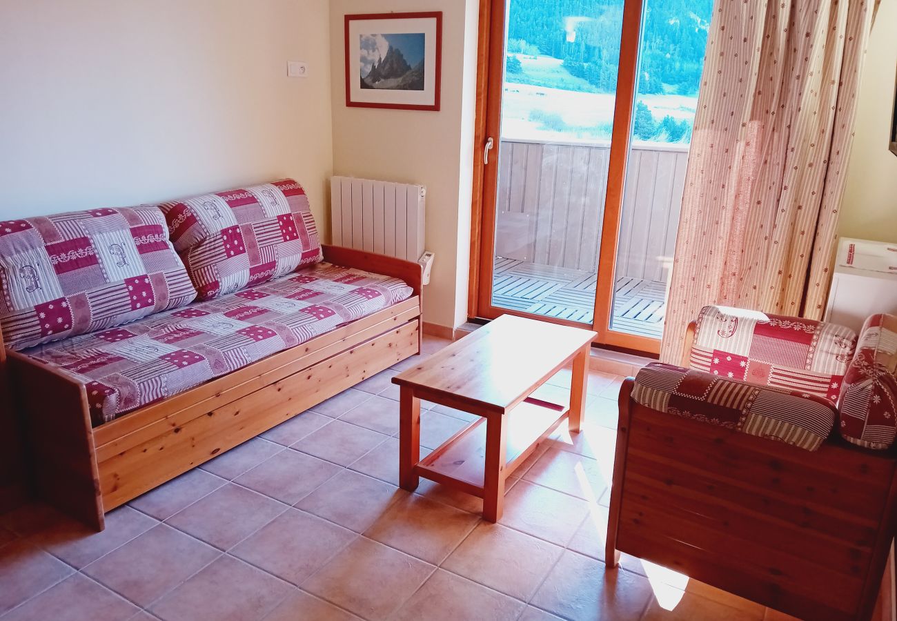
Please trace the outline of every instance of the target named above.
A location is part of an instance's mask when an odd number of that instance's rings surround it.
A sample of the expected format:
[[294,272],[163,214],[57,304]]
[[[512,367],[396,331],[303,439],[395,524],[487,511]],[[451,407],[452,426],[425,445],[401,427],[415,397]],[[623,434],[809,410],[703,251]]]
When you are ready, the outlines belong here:
[[528,601],[562,552],[562,547],[518,530],[480,522],[441,566]]

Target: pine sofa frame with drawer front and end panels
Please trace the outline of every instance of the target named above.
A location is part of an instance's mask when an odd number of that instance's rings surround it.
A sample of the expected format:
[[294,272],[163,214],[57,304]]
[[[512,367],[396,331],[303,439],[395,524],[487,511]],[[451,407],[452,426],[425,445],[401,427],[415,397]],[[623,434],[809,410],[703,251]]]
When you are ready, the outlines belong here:
[[401,278],[414,294],[98,427],[91,427],[82,384],[7,352],[38,496],[102,530],[106,512],[419,354],[422,267],[360,250],[323,249],[330,263]]

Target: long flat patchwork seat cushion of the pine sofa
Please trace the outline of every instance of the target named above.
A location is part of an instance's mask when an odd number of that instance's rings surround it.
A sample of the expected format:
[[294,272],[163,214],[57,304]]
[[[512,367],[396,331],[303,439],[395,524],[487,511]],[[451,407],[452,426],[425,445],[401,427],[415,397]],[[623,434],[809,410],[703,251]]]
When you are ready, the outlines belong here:
[[411,294],[396,278],[319,263],[238,293],[24,353],[83,383],[98,425]]

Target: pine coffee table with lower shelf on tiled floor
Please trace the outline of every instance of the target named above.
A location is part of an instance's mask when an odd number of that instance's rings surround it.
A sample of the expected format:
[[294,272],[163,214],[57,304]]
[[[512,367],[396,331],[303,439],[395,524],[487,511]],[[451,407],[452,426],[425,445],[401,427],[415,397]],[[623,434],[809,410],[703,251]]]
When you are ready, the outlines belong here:
[[[503,315],[393,378],[401,389],[399,485],[420,477],[483,498],[483,518],[501,518],[505,479],[564,419],[579,432],[591,330]],[[573,363],[570,404],[532,393]],[[480,416],[421,458],[421,399]]]

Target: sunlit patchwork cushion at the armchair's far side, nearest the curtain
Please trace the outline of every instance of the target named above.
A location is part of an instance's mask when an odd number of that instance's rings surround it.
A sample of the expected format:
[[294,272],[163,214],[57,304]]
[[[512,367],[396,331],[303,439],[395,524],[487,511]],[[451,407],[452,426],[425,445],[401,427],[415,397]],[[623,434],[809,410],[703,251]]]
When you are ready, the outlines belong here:
[[705,306],[698,315],[689,365],[834,403],[856,343],[853,330],[833,323]]

